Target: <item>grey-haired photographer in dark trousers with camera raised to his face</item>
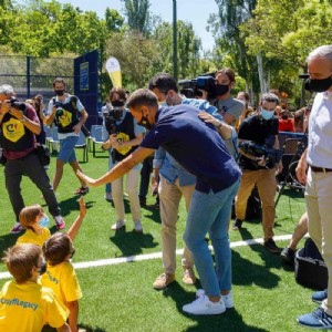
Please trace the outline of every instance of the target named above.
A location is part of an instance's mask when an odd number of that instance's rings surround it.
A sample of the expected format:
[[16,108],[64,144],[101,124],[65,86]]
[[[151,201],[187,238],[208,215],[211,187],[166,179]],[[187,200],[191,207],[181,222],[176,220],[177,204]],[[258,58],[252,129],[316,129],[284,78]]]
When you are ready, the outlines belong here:
[[4,166],[6,187],[17,218],[11,234],[18,234],[22,230],[18,221],[20,211],[24,207],[20,187],[23,175],[27,175],[42,191],[58,229],[62,229],[65,224],[60,215],[59,204],[45,169],[35,153],[35,135],[41,132],[40,122],[35,111],[29,104],[20,103],[12,97],[14,97],[12,86],[1,85],[0,144],[7,158]]

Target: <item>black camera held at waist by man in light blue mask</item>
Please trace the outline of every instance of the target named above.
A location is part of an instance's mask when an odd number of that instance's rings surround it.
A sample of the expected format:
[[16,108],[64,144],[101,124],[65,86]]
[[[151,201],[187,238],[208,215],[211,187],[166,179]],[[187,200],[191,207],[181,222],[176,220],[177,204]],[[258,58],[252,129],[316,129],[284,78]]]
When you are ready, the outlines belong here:
[[268,145],[256,144],[252,141],[240,142],[239,148],[253,157],[264,157],[266,164],[269,162],[272,162],[273,164],[279,163],[283,154],[282,149],[277,149]]

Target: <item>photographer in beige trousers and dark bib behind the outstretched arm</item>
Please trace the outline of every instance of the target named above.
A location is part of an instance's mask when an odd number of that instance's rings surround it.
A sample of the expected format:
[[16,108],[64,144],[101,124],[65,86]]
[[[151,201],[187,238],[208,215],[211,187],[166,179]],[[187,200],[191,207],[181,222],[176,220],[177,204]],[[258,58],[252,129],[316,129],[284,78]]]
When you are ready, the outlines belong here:
[[[110,103],[103,107],[104,133],[108,137],[103,144],[110,151],[110,169],[132,154],[143,139],[144,127],[138,126],[133,115],[125,108],[126,91],[114,87],[110,91]],[[126,175],[126,193],[131,203],[134,230],[142,232],[142,214],[138,198],[138,180],[142,164],[137,164]],[[125,226],[125,209],[123,203],[123,177],[112,183],[112,195],[116,221],[112,226],[117,230]]]

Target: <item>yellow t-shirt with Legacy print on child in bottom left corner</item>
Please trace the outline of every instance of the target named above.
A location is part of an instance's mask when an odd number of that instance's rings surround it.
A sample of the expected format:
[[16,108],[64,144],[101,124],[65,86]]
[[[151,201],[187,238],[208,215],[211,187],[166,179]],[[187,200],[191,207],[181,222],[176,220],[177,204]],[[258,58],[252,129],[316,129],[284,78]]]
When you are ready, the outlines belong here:
[[68,317],[54,292],[37,282],[12,280],[0,291],[0,331],[40,332],[45,324],[56,329]]

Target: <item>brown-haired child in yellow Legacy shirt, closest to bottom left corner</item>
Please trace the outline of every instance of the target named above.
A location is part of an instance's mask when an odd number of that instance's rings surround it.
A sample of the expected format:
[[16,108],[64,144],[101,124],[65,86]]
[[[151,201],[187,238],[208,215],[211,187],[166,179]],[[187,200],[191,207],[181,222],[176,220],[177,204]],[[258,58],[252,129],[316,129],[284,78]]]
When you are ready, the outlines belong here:
[[6,252],[3,261],[13,280],[0,291],[0,331],[40,332],[49,324],[69,332],[69,310],[54,292],[38,283],[43,266],[42,250],[37,245],[17,245]]

